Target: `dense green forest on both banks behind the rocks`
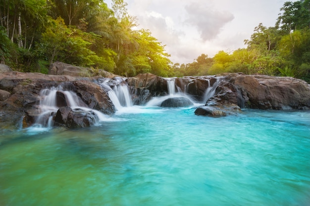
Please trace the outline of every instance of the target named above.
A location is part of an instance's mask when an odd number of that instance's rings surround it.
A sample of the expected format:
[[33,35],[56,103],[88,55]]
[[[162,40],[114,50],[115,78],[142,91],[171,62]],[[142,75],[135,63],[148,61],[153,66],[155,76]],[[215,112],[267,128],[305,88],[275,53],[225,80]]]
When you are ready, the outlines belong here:
[[259,24],[246,48],[179,64],[151,32],[136,30],[124,0],[0,0],[0,62],[47,73],[55,61],[121,76],[223,72],[291,76],[310,82],[310,0],[287,1],[273,27]]

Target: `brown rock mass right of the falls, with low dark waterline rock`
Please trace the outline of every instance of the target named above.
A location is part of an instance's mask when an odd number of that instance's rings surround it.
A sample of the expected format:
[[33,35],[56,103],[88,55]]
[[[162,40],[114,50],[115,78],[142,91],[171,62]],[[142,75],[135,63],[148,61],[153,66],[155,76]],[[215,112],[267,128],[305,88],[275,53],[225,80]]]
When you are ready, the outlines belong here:
[[238,113],[240,108],[309,110],[310,85],[291,77],[225,74],[215,95],[195,114],[225,116]]

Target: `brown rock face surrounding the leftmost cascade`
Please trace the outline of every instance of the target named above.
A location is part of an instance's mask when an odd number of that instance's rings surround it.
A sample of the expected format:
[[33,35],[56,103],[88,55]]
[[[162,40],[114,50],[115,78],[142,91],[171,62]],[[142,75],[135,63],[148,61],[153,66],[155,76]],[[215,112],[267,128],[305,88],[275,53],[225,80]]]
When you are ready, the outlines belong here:
[[[78,79],[61,75],[7,72],[0,73],[0,122],[18,125],[23,119],[23,126],[31,126],[40,113],[40,109],[37,108],[41,98],[40,91],[51,87],[61,87],[64,90],[76,92],[85,106],[91,109],[108,115],[115,112],[106,91],[91,78]],[[62,92],[56,92],[56,99],[57,107],[67,106]],[[68,121],[65,126],[82,127],[93,124],[93,114],[77,111],[71,113],[69,119],[72,117],[76,121]],[[83,115],[86,119],[82,118]]]

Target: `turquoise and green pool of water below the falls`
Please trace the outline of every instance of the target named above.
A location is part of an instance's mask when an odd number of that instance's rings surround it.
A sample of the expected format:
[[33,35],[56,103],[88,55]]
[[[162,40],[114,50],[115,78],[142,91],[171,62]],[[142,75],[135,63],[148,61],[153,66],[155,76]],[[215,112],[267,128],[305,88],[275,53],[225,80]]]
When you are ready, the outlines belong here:
[[0,206],[309,206],[310,112],[134,108],[2,131]]

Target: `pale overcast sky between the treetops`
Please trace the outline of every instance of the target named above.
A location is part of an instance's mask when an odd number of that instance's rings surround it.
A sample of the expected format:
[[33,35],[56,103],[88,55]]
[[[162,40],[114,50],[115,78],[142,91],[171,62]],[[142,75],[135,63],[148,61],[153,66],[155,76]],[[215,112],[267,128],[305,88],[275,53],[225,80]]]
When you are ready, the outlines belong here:
[[[254,28],[274,26],[288,0],[125,0],[139,29],[152,36],[171,55],[173,63],[191,63],[201,54],[213,57],[245,47]],[[295,0],[293,0],[295,1]],[[105,1],[111,7],[111,1]]]

